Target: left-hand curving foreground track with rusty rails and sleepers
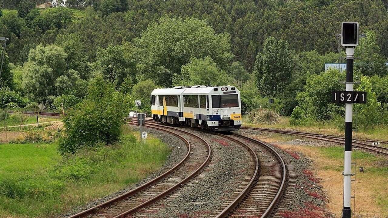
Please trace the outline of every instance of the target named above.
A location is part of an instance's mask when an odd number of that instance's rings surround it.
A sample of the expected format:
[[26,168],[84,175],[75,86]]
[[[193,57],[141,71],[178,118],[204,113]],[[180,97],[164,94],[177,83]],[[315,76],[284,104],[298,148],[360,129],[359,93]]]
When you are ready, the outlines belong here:
[[[131,122],[129,124],[134,125]],[[208,142],[201,137],[168,127],[160,128],[156,125],[144,125],[144,127],[164,131],[183,140],[187,146],[187,154],[184,159],[153,180],[69,218],[86,216],[91,218],[121,218],[132,215],[139,209],[151,205],[180,188],[181,185],[198,175],[208,164],[211,148]]]

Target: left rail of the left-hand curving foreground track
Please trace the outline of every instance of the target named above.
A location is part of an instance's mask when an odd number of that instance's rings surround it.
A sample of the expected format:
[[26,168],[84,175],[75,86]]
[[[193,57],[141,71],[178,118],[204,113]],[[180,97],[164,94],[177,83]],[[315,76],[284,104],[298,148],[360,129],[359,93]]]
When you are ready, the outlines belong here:
[[[68,218],[80,218],[80,217],[85,217],[91,213],[93,213],[95,210],[97,209],[101,209],[101,208],[105,208],[107,206],[110,206],[111,204],[113,204],[114,202],[118,202],[118,201],[121,201],[123,199],[126,199],[130,196],[133,196],[134,194],[137,194],[139,193],[141,190],[144,190],[148,187],[150,187],[151,185],[153,185],[154,183],[156,182],[159,182],[161,179],[165,178],[166,176],[170,175],[173,171],[175,171],[178,167],[180,167],[186,160],[187,158],[189,157],[190,155],[190,152],[191,152],[191,145],[189,143],[189,141],[187,141],[184,137],[180,136],[179,134],[177,133],[174,133],[172,131],[168,131],[168,130],[164,130],[162,128],[157,128],[157,127],[154,127],[154,126],[150,126],[150,125],[144,125],[148,128],[153,128],[153,129],[156,129],[156,130],[161,130],[161,131],[165,131],[166,133],[169,133],[171,135],[174,135],[178,138],[180,138],[187,146],[187,153],[185,155],[185,157],[178,163],[176,164],[175,166],[173,166],[173,168],[171,168],[170,170],[166,171],[165,173],[163,173],[162,175],[159,175],[158,177],[152,179],[151,181],[143,184],[143,185],[140,185],[139,187],[135,188],[135,189],[132,189],[118,197],[115,197],[113,199],[110,199],[109,201],[106,201],[106,202],[103,202],[97,206],[94,206],[92,208],[89,208],[85,211],[82,211],[80,213],[77,213],[75,215],[72,215],[72,216],[69,216]],[[209,152],[210,153],[210,152]]]

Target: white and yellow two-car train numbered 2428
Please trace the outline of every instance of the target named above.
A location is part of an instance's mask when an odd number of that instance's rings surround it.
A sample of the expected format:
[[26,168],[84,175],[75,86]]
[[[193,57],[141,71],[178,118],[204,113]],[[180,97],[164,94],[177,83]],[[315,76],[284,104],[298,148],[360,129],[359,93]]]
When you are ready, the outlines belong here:
[[151,116],[162,123],[238,130],[242,124],[240,102],[240,91],[233,86],[157,88],[151,93]]

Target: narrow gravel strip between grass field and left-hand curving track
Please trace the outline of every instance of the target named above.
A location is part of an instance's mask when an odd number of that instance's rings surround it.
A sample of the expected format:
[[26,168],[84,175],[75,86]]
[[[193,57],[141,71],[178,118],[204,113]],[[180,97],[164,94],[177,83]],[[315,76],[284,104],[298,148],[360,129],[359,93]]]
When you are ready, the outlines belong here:
[[[133,128],[133,130],[139,130],[139,127],[137,127],[137,126],[132,126],[132,125],[129,125],[129,126],[131,126]],[[81,211],[84,211],[88,208],[92,208],[93,206],[101,204],[102,202],[108,201],[109,199],[113,199],[117,196],[120,196],[121,194],[124,194],[125,192],[128,192],[128,191],[138,187],[139,185],[142,185],[142,184],[152,180],[153,178],[161,175],[162,173],[166,172],[167,170],[169,170],[170,168],[175,166],[177,163],[179,163],[186,155],[186,153],[187,153],[186,144],[180,138],[172,136],[172,135],[165,133],[163,131],[158,131],[158,130],[154,130],[151,128],[146,128],[146,131],[147,131],[147,133],[151,134],[153,137],[159,138],[162,142],[164,142],[166,145],[170,146],[172,149],[171,153],[168,155],[166,162],[162,168],[160,168],[158,171],[152,173],[147,178],[145,178],[144,180],[140,181],[137,184],[130,185],[130,186],[126,187],[125,189],[119,190],[118,192],[112,193],[106,197],[97,199],[96,201],[89,202],[89,203],[82,205],[82,206],[74,207],[70,211],[68,211],[68,213],[62,214],[58,217],[59,218],[66,218],[66,217],[71,216],[73,214],[80,213]],[[178,147],[180,147],[180,148],[178,149]]]

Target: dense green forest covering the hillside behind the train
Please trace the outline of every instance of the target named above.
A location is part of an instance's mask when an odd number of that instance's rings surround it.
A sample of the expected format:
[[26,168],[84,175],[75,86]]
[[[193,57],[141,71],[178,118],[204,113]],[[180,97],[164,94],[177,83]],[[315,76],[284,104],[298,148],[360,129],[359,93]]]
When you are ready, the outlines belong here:
[[231,84],[244,111],[272,108],[294,125],[340,120],[344,108],[330,93],[344,89],[345,73],[324,64],[345,61],[336,34],[342,21],[358,21],[366,37],[356,48],[355,88],[369,103],[355,106],[355,123],[388,124],[386,0],[57,0],[45,10],[36,3],[0,0],[0,36],[9,38],[0,108],[45,102],[67,110],[102,77],[145,102],[155,87]]

